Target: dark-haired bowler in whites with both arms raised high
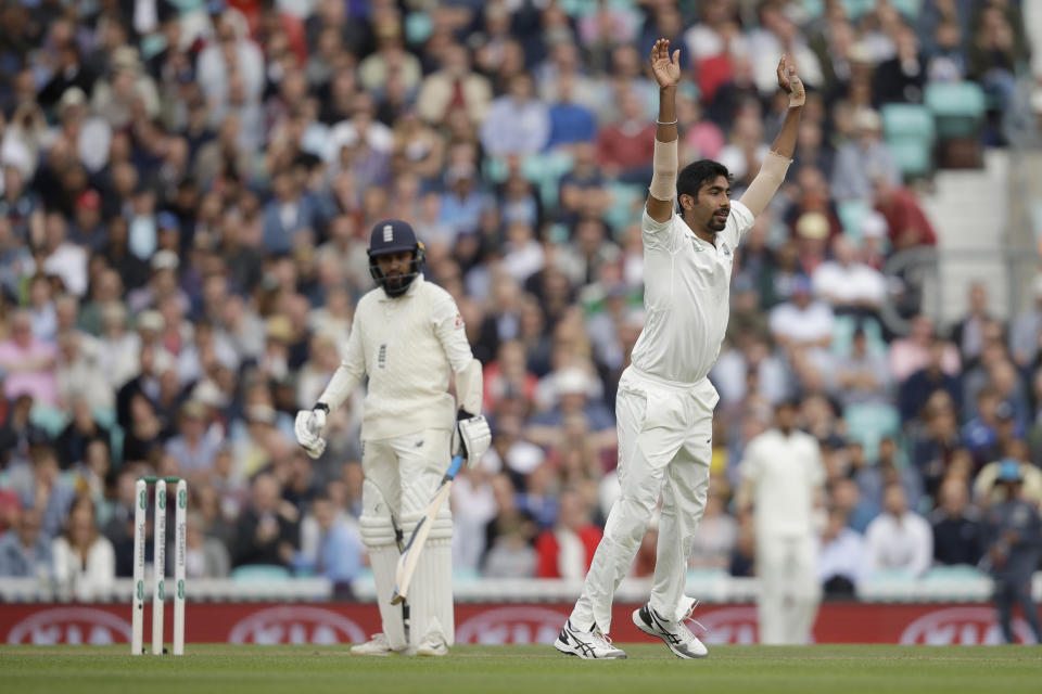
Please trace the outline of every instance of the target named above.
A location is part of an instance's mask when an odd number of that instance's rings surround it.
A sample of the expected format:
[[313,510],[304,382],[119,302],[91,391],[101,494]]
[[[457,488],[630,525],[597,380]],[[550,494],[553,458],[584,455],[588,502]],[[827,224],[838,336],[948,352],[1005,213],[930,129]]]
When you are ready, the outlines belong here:
[[608,639],[611,603],[660,494],[651,597],[632,618],[677,657],[707,655],[685,624],[697,601],[684,594],[687,558],[709,491],[713,408],[720,399],[707,376],[727,329],[735,252],[785,180],[805,99],[796,66],[783,56],[778,86],[789,94],[785,123],[741,200],[732,201],[723,165],[702,159],[677,174],[679,53],[671,57],[665,39],[651,50],[659,118],[640,223],[647,318],[615,399],[621,496],[608,515],[583,592],[554,642],[561,653],[581,658],[626,657]]

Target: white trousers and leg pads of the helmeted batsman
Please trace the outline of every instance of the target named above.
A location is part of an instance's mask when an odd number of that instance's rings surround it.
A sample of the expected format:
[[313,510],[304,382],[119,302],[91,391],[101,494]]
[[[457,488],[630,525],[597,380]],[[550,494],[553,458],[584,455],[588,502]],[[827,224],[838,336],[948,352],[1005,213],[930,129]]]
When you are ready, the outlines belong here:
[[450,444],[450,429],[425,429],[363,446],[363,539],[369,548],[383,630],[394,648],[416,645],[431,632],[448,645],[455,641],[453,520],[447,503],[431,525],[409,589],[409,643],[404,638],[402,608],[390,604],[398,557],[391,518],[407,542],[448,470]]

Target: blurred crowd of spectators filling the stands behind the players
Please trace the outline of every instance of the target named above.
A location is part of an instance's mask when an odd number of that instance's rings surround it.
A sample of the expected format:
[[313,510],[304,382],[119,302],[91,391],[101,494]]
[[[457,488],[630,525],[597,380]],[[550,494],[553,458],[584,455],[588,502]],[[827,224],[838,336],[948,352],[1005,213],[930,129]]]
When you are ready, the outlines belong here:
[[[158,474],[189,480],[190,577],[263,565],[347,594],[364,395],[317,461],[292,422],[339,364],[389,217],[423,240],[485,369],[494,439],[454,486],[455,570],[581,578],[644,322],[659,37],[684,67],[681,160],[724,163],[736,196],[785,115],[783,52],[809,88],[787,183],[736,261],[691,567],[753,574],[733,492],[792,399],[825,464],[828,592],[976,566],[1002,461],[1042,502],[1042,280],[1011,321],[974,283],[936,325],[884,273],[944,229],[880,110],[973,80],[981,138],[1004,146],[1030,47],[1015,0],[910,4],[2,0],[0,578],[89,597],[129,576],[134,483]],[[635,575],[653,563],[652,524]]]

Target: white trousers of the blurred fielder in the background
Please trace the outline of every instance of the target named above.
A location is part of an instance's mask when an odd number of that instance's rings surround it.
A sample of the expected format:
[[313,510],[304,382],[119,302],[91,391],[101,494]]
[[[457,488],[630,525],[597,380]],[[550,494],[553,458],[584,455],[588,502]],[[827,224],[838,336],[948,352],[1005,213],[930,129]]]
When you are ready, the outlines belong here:
[[760,643],[803,645],[822,602],[817,542],[811,536],[757,536]]

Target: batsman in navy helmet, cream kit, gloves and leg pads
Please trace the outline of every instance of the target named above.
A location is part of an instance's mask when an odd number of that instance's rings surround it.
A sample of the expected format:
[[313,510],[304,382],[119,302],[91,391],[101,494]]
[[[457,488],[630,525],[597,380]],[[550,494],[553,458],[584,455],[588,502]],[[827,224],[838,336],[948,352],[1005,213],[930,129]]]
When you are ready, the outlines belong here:
[[[423,245],[405,221],[372,229],[369,271],[379,285],[358,301],[340,368],[295,433],[312,458],[326,449],[326,415],[369,376],[361,423],[361,537],[377,583],[383,632],[355,655],[446,655],[455,639],[453,519],[424,511],[453,455],[474,465],[492,439],[481,415],[482,370],[456,301],[421,274]],[[449,394],[455,374],[458,407]],[[402,538],[429,523],[408,603],[392,605]],[[411,551],[418,551],[414,548]],[[407,612],[406,612],[407,611]],[[406,622],[406,619],[408,622]]]

